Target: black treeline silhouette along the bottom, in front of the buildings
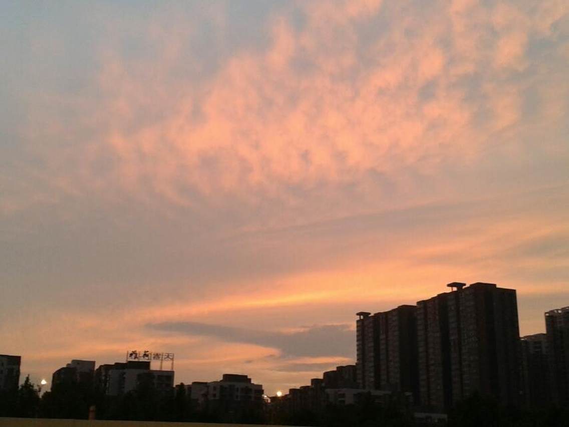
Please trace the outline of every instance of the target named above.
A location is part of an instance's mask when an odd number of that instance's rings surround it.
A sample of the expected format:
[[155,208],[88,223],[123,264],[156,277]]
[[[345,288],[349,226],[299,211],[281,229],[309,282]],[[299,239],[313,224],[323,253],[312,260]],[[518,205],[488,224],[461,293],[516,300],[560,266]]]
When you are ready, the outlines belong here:
[[[29,377],[17,390],[0,392],[0,416],[75,418],[89,417],[95,408],[100,420],[238,422],[240,424],[281,424],[322,427],[412,427],[423,426],[413,413],[401,405],[380,405],[362,400],[356,405],[325,405],[320,413],[300,410],[285,412],[267,407],[265,411],[199,408],[188,396],[183,384],[168,393],[156,392],[147,383],[122,396],[105,396],[87,385],[58,384],[43,393]],[[448,414],[446,427],[562,427],[569,420],[569,408],[539,410],[504,408],[496,401],[472,396]],[[432,425],[432,424],[429,424]]]

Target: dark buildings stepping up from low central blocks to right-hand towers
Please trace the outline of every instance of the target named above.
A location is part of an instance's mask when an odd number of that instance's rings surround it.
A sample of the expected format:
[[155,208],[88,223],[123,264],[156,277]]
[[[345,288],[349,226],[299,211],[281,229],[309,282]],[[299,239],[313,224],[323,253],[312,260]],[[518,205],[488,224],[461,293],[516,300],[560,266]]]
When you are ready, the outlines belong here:
[[281,411],[318,412],[328,403],[395,399],[418,413],[444,413],[478,393],[515,407],[569,404],[569,307],[545,314],[545,334],[520,338],[516,290],[447,286],[415,305],[360,311],[356,365],[271,402]]

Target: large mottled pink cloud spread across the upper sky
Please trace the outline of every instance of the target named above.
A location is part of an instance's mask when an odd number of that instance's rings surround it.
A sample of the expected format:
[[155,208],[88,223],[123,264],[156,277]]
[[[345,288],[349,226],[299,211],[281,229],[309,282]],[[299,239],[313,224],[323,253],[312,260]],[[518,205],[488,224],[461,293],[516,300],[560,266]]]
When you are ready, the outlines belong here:
[[[240,46],[213,61],[217,68],[205,80],[185,68],[179,73],[182,63],[202,60],[184,44],[196,37],[182,31],[185,23],[167,27],[159,16],[147,24],[141,43],[152,55],[118,50],[129,39],[110,26],[113,43],[99,48],[100,73],[92,82],[101,95],[92,102],[55,99],[61,116],[82,110],[69,123],[72,134],[93,130],[96,137],[55,157],[40,152],[50,158],[46,191],[126,193],[142,203],[158,198],[192,208],[226,200],[253,207],[267,198],[294,207],[304,199],[292,188],[358,185],[376,172],[389,186],[416,192],[415,174],[434,179],[441,165],[453,170],[483,161],[496,132],[527,120],[526,88],[541,92],[549,84],[545,75],[519,72],[543,67],[529,46],[544,38],[560,44],[555,28],[566,12],[551,1],[535,9],[529,2],[428,9],[406,2],[295,3],[263,16],[263,46]],[[206,19],[224,13],[212,10],[203,12]],[[214,31],[222,34],[229,23],[217,20]],[[564,61],[554,52],[550,72]],[[568,88],[558,77],[548,78],[561,96]],[[426,87],[430,96],[422,99]],[[43,108],[31,116],[42,128],[61,122],[54,118]],[[50,128],[53,138],[64,133]],[[378,201],[387,200],[383,188],[373,190]],[[4,204],[6,212],[19,206]]]

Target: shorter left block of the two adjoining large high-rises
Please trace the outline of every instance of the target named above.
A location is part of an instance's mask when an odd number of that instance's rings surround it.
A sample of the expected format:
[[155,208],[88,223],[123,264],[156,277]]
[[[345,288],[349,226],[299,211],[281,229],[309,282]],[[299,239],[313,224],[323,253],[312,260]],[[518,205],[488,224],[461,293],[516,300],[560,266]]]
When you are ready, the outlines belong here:
[[413,305],[356,321],[357,380],[362,389],[412,392],[418,396],[417,321]]

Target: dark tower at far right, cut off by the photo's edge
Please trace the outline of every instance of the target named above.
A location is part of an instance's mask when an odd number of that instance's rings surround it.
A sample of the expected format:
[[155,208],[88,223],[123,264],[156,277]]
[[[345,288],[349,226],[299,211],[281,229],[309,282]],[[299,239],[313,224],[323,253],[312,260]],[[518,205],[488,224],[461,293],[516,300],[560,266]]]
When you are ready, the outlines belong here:
[[552,397],[560,406],[569,405],[569,307],[545,313],[551,367]]

